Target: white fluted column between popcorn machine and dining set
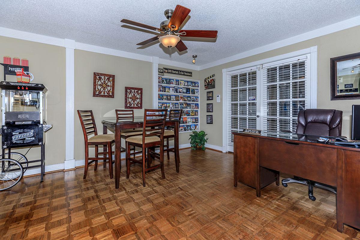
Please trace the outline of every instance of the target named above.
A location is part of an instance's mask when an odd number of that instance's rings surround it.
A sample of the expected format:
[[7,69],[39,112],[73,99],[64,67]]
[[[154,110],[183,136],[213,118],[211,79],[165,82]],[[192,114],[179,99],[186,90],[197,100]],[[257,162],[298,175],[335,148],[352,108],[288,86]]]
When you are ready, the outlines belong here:
[[74,49],[75,40],[65,39],[66,48],[66,119],[64,169],[75,168],[74,159]]

